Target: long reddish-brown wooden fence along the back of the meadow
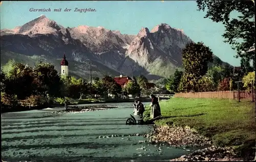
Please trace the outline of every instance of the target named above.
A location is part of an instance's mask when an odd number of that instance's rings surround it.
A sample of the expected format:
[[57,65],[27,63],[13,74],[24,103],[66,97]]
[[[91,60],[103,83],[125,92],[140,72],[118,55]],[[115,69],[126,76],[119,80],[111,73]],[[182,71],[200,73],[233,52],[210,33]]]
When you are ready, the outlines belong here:
[[[252,98],[253,95],[253,98]],[[196,92],[196,93],[177,93],[174,97],[182,98],[229,98],[229,99],[251,99],[255,101],[255,93],[240,91],[218,91],[218,92]]]

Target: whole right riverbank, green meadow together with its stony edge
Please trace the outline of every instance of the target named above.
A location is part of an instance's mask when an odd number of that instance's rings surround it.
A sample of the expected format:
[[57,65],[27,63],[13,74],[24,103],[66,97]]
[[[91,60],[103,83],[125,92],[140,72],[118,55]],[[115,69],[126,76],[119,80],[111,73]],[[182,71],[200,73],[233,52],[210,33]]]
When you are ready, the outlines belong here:
[[[162,118],[145,134],[150,143],[200,150],[171,161],[253,160],[253,103],[228,99],[172,98],[160,102]],[[203,149],[201,149],[203,148]]]

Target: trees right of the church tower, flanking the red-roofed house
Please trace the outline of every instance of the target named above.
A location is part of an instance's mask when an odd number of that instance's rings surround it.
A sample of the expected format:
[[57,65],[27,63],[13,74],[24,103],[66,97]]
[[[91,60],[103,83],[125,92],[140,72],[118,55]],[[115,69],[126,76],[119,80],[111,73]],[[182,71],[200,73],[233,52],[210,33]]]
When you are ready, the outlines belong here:
[[92,79],[92,87],[86,80],[73,76],[62,77],[65,83],[65,92],[63,96],[71,98],[79,98],[82,95],[91,95],[91,98],[109,98],[109,94],[115,98],[126,97],[129,95],[133,97],[141,96],[142,94],[149,95],[154,92],[154,88],[148,87],[148,80],[145,76],[132,77],[132,80],[124,86],[116,83],[113,77],[104,76],[102,79],[95,77]]

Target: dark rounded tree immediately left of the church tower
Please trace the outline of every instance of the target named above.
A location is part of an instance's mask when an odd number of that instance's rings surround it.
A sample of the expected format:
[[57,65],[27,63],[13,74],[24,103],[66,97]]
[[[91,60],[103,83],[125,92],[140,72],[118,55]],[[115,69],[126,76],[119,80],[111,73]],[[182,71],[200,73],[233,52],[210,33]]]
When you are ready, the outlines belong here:
[[54,65],[49,63],[36,63],[33,68],[33,83],[37,86],[36,91],[39,95],[47,94],[59,97],[60,94],[60,77]]

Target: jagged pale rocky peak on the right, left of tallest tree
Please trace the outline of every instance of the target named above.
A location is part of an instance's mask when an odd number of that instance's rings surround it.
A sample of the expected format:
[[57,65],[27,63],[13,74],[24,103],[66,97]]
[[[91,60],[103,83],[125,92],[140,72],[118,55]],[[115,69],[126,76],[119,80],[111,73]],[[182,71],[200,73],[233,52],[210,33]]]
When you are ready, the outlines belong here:
[[142,28],[130,44],[126,56],[142,67],[149,67],[153,62],[156,63],[156,60],[159,63],[157,66],[164,62],[180,66],[182,49],[190,41],[181,30],[174,29],[167,23],[161,23],[151,32],[147,28]]

